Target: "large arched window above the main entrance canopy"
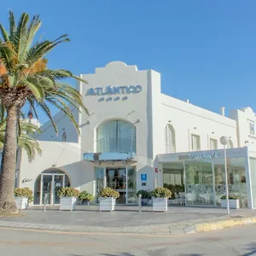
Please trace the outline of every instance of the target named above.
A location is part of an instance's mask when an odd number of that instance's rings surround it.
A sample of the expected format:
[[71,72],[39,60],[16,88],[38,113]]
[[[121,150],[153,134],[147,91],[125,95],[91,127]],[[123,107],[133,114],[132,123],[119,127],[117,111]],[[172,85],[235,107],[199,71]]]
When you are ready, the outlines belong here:
[[96,129],[96,152],[136,153],[136,127],[123,120],[110,120]]

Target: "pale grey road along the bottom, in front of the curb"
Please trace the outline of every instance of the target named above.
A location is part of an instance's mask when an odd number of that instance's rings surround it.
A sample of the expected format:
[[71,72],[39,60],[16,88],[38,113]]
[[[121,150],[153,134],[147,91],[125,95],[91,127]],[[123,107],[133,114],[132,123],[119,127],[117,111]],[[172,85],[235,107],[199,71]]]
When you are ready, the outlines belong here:
[[5,256],[250,256],[256,255],[256,225],[183,236],[78,234],[1,228],[0,252]]

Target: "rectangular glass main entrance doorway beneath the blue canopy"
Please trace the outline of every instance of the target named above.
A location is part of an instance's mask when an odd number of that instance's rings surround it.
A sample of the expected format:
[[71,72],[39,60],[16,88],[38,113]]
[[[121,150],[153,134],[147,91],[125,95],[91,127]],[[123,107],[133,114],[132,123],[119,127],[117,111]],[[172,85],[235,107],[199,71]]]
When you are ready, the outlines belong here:
[[[105,182],[104,182],[105,180]],[[119,192],[117,204],[137,203],[137,172],[133,166],[96,167],[96,191],[109,187]]]

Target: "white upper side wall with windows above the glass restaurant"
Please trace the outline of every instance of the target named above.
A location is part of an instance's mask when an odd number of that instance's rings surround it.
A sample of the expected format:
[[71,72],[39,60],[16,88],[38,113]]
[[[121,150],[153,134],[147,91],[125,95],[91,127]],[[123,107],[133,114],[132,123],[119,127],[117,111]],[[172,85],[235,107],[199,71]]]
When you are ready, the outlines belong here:
[[222,136],[230,137],[234,147],[237,147],[236,121],[233,119],[164,94],[161,95],[158,112],[160,115],[159,130],[157,131],[159,136],[156,141],[158,143],[158,154],[166,153],[167,124],[172,125],[176,133],[176,152],[192,150],[192,134],[201,137],[201,150],[210,149],[211,138],[218,141],[218,148],[223,148],[219,143],[219,138]]

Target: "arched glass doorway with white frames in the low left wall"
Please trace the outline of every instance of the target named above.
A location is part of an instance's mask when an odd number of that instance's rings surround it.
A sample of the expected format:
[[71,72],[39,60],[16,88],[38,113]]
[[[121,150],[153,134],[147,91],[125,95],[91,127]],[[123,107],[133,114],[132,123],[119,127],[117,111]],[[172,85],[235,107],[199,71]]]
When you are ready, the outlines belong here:
[[69,187],[69,177],[62,171],[43,172],[41,173],[35,183],[34,189],[34,205],[44,204],[44,195],[47,195],[47,205],[60,204],[60,197],[58,196],[59,189]]

